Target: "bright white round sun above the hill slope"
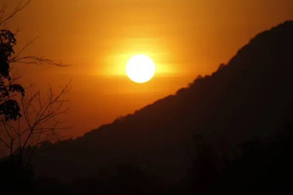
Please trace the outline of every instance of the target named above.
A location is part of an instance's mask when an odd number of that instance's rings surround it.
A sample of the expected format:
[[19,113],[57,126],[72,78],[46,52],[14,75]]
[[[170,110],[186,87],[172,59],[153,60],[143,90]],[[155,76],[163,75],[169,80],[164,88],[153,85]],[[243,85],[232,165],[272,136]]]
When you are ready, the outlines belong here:
[[134,82],[149,81],[155,74],[155,64],[146,55],[135,55],[127,61],[126,74]]

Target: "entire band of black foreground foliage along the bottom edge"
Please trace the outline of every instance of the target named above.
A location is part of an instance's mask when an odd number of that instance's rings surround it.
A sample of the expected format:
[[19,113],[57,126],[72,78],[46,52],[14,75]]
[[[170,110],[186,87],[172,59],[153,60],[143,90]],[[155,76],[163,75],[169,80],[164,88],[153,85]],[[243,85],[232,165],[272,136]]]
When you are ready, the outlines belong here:
[[[176,185],[162,188],[152,182],[149,173],[136,165],[127,162],[108,166],[95,176],[76,178],[70,183],[60,182],[57,178],[42,177],[32,180],[31,169],[20,177],[12,180],[20,164],[2,163],[1,174],[7,177],[1,181],[1,189],[11,183],[21,187],[13,188],[14,193],[32,193],[49,195],[65,193],[72,195],[247,195],[261,194],[292,194],[291,176],[293,174],[293,125],[280,130],[274,138],[255,138],[239,144],[239,153],[228,158],[225,152],[219,153],[212,149],[204,137],[194,140],[192,169],[187,179]],[[9,165],[7,167],[7,165]],[[12,169],[13,168],[13,169]],[[3,171],[4,170],[4,171]],[[8,174],[9,173],[9,174]],[[25,179],[23,179],[25,177]]]

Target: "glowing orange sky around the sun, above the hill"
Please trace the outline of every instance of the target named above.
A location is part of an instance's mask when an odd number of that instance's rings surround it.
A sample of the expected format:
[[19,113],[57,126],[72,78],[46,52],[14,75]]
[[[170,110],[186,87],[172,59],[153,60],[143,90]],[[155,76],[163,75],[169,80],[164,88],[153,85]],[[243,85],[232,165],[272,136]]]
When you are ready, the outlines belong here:
[[[21,29],[16,50],[41,36],[26,54],[70,64],[17,68],[42,90],[72,79],[64,120],[81,136],[210,74],[260,31],[293,20],[292,10],[293,0],[32,0],[9,28]],[[143,84],[125,73],[138,53],[157,70]]]

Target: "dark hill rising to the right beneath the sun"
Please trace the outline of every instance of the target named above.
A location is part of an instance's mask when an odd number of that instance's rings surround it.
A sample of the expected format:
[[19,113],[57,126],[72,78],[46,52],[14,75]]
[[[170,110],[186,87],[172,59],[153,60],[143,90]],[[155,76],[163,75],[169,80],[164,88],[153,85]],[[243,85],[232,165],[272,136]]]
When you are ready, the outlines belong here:
[[211,75],[32,162],[39,176],[72,179],[129,158],[160,180],[176,181],[185,175],[194,135],[228,151],[292,121],[292,88],[293,21],[285,21],[256,35]]

